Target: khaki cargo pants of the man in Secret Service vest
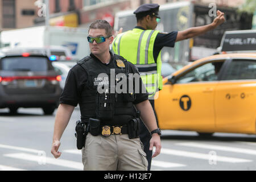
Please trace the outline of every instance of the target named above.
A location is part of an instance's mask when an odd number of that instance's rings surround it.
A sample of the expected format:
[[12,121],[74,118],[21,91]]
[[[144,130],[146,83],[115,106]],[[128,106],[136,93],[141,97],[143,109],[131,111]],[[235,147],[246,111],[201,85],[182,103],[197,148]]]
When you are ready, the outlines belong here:
[[86,171],[147,171],[141,140],[129,139],[127,134],[95,137],[88,133],[82,163]]

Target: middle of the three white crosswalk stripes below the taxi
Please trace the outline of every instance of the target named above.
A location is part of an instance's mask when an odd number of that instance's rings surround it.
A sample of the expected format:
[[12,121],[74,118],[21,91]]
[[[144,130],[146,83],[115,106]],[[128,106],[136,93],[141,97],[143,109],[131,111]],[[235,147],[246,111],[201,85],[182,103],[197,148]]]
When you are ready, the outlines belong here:
[[[187,152],[182,150],[172,150],[168,148],[162,148],[160,154],[167,154],[167,155],[177,155],[177,156],[183,156],[187,158],[196,158],[196,159],[204,159],[204,160],[211,160],[212,155],[210,154],[201,154],[197,152]],[[245,162],[251,162],[251,160],[247,159],[240,159],[240,158],[228,158],[225,156],[216,156],[216,161],[218,162],[228,162],[228,163],[245,163]]]

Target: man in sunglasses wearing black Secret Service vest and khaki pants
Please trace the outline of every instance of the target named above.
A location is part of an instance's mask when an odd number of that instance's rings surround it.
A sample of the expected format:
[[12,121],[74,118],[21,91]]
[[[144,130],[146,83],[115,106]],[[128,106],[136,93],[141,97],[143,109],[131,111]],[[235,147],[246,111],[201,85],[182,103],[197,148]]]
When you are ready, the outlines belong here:
[[[56,113],[51,153],[55,158],[60,157],[61,135],[73,109],[79,104],[81,120],[89,127],[85,147],[82,148],[84,170],[147,170],[146,154],[139,140],[138,120],[134,119],[138,114],[134,105],[141,112],[148,129],[155,132],[150,147],[156,147],[154,156],[157,156],[161,144],[148,93],[136,90],[134,93],[109,92],[109,86],[113,85],[113,72],[114,76],[139,73],[133,64],[109,51],[113,36],[108,22],[96,20],[90,25],[88,34],[91,54],[77,62],[68,73]],[[118,79],[120,81],[121,77],[114,78],[114,86],[117,86]],[[139,85],[139,90],[143,90],[141,78]],[[101,93],[99,88],[104,92]],[[133,130],[130,123],[133,123]],[[137,137],[131,137],[133,131]]]

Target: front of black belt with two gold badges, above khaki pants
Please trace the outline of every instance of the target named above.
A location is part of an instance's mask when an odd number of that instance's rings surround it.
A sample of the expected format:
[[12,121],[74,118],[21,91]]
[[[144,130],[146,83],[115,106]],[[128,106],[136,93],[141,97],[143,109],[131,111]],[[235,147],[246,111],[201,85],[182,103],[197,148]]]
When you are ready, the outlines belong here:
[[106,137],[109,135],[128,134],[128,127],[127,125],[123,125],[123,126],[102,125],[100,129],[100,134]]

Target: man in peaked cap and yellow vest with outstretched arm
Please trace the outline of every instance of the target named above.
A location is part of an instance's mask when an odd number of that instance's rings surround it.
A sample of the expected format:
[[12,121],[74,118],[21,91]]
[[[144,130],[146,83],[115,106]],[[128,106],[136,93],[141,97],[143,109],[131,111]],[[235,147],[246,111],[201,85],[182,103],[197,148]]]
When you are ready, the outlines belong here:
[[[114,39],[112,48],[116,54],[131,61],[138,68],[154,109],[154,96],[158,90],[162,89],[161,49],[164,46],[174,47],[175,42],[213,30],[225,21],[224,13],[217,11],[217,17],[206,26],[192,27],[184,31],[170,33],[155,30],[160,21],[158,4],[141,5],[134,11],[134,14],[137,18],[137,26],[133,30],[118,34]],[[143,123],[140,138],[144,144],[148,170],[150,170],[152,151],[149,150],[149,141],[151,135]]]

